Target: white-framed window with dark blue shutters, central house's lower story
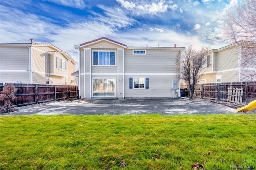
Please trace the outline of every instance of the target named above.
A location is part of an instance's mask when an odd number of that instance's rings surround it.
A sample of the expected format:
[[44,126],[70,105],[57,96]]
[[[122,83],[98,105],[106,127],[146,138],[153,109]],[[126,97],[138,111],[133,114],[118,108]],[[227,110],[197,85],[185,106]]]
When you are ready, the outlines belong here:
[[130,89],[148,89],[149,88],[148,77],[131,77]]

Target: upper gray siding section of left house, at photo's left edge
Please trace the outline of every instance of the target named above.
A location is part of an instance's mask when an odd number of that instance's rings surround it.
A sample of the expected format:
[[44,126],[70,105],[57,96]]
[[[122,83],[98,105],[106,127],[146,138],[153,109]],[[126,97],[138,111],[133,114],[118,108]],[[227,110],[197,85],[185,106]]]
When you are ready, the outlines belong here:
[[29,70],[28,47],[0,47],[1,70]]

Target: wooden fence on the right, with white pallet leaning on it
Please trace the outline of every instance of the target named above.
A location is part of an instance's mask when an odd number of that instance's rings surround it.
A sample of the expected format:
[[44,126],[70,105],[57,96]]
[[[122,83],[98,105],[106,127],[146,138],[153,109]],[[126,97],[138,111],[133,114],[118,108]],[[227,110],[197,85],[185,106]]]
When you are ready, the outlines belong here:
[[200,84],[195,93],[196,98],[242,103],[247,98],[256,99],[256,81]]

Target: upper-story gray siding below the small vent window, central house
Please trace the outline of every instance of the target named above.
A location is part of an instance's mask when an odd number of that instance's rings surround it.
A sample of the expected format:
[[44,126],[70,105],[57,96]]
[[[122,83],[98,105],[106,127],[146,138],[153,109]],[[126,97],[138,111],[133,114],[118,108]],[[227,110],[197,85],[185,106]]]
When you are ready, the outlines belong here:
[[125,73],[176,73],[178,51],[146,50],[146,55],[124,52]]

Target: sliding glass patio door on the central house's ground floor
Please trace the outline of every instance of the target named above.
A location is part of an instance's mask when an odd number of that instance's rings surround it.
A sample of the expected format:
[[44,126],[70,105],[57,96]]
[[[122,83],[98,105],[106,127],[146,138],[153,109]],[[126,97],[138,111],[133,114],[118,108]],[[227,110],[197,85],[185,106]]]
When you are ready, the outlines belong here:
[[115,79],[93,79],[93,97],[115,96]]

